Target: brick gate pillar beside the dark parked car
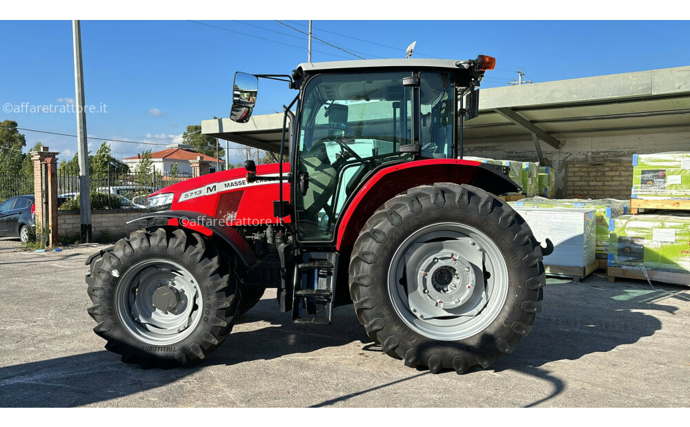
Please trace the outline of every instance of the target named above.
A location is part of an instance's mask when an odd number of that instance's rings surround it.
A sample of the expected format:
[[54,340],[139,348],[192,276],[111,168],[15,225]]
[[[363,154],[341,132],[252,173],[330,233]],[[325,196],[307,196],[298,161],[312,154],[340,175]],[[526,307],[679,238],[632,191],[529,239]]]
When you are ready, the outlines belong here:
[[[57,245],[57,152],[40,147],[30,152],[34,163],[34,203],[36,205],[36,237],[48,237],[48,246]],[[43,230],[43,233],[41,233]]]

